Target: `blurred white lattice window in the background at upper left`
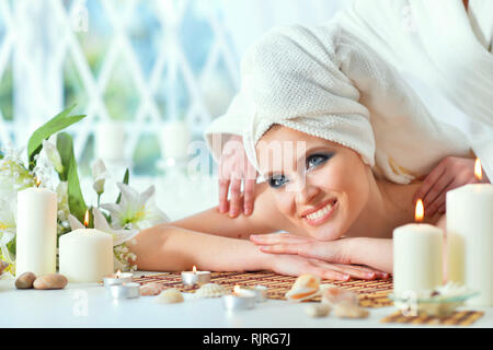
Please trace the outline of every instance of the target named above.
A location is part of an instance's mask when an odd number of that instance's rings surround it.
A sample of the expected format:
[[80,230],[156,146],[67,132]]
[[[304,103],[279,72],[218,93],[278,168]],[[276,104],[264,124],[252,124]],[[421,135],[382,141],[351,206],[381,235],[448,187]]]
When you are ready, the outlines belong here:
[[129,159],[149,137],[159,143],[170,119],[198,138],[239,85],[220,9],[197,0],[0,0],[0,144],[24,144],[73,102],[88,115],[70,129],[82,166],[95,156],[103,120],[125,121]]

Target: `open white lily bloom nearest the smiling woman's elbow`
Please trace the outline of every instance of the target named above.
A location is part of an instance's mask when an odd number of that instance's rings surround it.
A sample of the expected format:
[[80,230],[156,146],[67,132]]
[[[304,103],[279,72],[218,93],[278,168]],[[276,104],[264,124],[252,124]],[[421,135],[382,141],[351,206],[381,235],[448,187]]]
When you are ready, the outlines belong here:
[[123,183],[117,185],[122,191],[119,205],[105,203],[101,206],[110,211],[114,229],[136,229],[140,231],[169,221],[167,214],[156,206],[154,186],[150,186],[139,194],[128,185]]

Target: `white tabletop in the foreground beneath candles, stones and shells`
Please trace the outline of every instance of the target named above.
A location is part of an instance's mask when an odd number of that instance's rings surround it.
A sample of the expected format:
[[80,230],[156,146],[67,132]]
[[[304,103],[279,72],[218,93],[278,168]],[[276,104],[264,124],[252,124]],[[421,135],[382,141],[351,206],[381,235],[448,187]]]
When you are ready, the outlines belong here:
[[[140,276],[141,272],[136,272]],[[0,328],[5,327],[179,327],[179,328],[337,328],[419,327],[382,324],[393,307],[368,308],[367,319],[311,318],[305,304],[268,300],[255,308],[227,312],[220,299],[191,299],[180,304],[156,304],[153,296],[113,300],[96,283],[69,283],[64,290],[16,290],[13,280],[0,280]],[[493,307],[468,307],[485,314],[470,327],[493,327]],[[423,327],[423,326],[421,326]],[[431,327],[431,326],[425,326]],[[434,326],[437,327],[437,326]],[[443,327],[443,326],[438,326]],[[462,328],[462,327],[460,327]]]

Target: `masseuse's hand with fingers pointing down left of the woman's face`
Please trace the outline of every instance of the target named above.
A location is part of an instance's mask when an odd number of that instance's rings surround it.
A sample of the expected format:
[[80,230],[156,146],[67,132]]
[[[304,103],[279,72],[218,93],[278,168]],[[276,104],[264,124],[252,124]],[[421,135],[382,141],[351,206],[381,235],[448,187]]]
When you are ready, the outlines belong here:
[[[249,162],[240,136],[232,136],[222,149],[219,161],[219,212],[229,211],[230,218],[237,218],[241,211],[245,215],[253,212],[256,170]],[[244,180],[244,196],[241,196],[241,182]],[[231,198],[228,208],[228,191]],[[242,208],[243,207],[243,208]]]

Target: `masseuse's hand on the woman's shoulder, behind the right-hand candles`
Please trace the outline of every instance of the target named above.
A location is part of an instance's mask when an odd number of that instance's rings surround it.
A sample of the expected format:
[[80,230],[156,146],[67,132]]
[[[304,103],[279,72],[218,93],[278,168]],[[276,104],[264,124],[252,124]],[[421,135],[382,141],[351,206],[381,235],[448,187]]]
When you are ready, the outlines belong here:
[[[483,173],[483,183],[489,182]],[[447,156],[423,180],[413,197],[413,202],[423,199],[425,213],[445,213],[445,194],[466,184],[480,183],[474,176],[474,160]]]

